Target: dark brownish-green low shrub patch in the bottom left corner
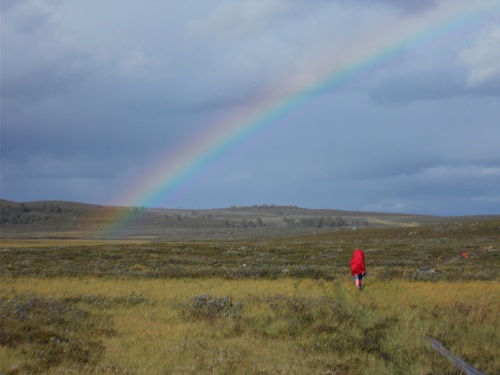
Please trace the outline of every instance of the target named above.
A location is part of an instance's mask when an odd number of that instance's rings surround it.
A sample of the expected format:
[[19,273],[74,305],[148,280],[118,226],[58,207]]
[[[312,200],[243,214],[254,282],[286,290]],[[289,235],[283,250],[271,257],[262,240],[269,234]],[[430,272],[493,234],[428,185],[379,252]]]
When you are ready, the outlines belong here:
[[25,357],[20,371],[40,373],[63,362],[95,366],[104,354],[100,335],[114,334],[112,320],[72,303],[36,295],[0,297],[0,346]]

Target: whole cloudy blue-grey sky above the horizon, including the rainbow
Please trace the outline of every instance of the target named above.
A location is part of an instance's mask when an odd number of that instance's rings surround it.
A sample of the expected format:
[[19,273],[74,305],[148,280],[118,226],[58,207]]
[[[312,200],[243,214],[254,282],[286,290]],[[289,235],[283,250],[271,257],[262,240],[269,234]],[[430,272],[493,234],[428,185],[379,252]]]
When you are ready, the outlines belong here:
[[2,0],[1,193],[500,214],[498,0]]

